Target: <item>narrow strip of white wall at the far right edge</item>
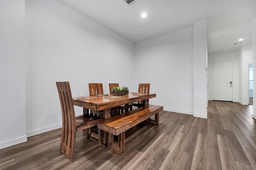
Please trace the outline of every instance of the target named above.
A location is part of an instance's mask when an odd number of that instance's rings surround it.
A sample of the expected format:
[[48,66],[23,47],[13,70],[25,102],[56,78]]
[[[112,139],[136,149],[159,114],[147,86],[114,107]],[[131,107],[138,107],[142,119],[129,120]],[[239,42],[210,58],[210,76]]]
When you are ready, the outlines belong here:
[[[256,80],[256,17],[252,21],[252,54],[253,54],[253,80]],[[256,83],[253,84],[253,89],[256,89]],[[256,99],[256,90],[253,90],[253,98]],[[253,105],[252,117],[256,119],[256,104]]]

